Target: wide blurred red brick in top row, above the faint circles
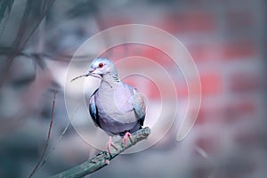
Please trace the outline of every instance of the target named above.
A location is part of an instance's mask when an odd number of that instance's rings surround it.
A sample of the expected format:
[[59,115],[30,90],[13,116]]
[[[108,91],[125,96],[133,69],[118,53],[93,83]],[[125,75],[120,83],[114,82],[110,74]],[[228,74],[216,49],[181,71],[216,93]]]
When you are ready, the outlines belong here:
[[214,14],[209,12],[174,12],[160,25],[170,33],[210,33],[216,28]]

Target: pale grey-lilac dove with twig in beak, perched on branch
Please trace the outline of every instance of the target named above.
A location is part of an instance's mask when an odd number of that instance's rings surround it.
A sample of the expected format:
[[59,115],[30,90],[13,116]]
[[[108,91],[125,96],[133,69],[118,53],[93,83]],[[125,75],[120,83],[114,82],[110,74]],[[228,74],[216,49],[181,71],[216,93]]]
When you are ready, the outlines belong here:
[[112,142],[115,135],[123,137],[125,146],[127,138],[133,142],[132,134],[142,128],[146,116],[145,96],[120,80],[114,62],[106,58],[94,59],[83,76],[101,79],[99,88],[90,97],[89,113],[94,125],[109,135],[105,148],[109,153],[111,147],[117,150]]

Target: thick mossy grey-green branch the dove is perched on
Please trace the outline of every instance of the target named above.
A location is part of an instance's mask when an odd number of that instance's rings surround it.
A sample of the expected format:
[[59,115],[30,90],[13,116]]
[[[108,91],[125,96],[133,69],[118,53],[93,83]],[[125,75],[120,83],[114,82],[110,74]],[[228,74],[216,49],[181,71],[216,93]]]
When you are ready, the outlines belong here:
[[109,154],[108,150],[103,150],[90,160],[85,161],[83,164],[70,168],[69,170],[61,172],[60,174],[55,174],[51,178],[60,178],[60,177],[77,178],[77,177],[83,177],[86,174],[91,174],[101,169],[103,166],[107,166],[111,159],[117,157],[117,155],[119,155],[124,150],[127,150],[137,142],[146,139],[150,135],[150,132],[151,131],[149,127],[142,128],[139,131],[132,134],[133,142],[130,141],[127,142],[126,147],[123,140],[120,139],[119,141],[115,142],[117,150],[112,150],[112,154]]

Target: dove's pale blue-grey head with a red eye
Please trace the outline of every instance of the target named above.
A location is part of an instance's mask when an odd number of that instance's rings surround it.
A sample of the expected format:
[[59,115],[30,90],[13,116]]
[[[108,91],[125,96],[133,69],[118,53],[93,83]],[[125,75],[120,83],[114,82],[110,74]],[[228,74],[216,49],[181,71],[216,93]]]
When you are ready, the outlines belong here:
[[92,61],[88,76],[99,75],[103,77],[107,74],[111,76],[117,76],[117,69],[112,61],[104,58],[97,58]]

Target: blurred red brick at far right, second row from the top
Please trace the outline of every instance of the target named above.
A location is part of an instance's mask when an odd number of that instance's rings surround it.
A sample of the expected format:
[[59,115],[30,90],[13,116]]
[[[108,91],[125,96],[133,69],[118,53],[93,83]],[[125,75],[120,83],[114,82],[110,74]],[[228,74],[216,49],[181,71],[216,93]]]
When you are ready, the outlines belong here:
[[223,59],[255,58],[256,46],[252,41],[235,41],[223,44]]

